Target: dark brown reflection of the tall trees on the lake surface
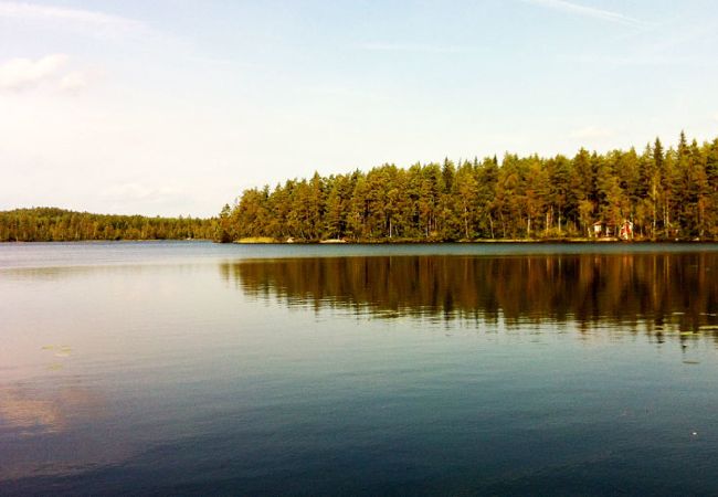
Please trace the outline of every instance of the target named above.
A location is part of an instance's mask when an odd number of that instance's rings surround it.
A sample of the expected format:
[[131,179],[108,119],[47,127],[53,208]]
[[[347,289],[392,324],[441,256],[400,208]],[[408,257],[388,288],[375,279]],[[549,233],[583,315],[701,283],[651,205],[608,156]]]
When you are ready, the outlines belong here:
[[[377,316],[609,326],[718,343],[718,254],[369,256],[223,263],[253,298]],[[622,332],[623,332],[622,331]],[[689,335],[690,334],[690,335]]]

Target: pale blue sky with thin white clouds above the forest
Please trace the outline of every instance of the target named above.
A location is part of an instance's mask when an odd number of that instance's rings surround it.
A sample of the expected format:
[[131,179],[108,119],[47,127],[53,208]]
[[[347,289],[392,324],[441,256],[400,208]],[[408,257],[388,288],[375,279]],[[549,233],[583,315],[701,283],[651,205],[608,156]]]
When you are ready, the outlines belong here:
[[714,0],[0,0],[0,210],[718,137]]

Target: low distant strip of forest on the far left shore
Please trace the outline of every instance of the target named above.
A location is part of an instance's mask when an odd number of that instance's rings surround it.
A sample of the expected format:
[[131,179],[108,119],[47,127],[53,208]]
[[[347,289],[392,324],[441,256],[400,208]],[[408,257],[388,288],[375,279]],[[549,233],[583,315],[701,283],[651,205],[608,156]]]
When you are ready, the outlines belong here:
[[217,220],[146,218],[55,208],[0,212],[0,242],[214,239]]

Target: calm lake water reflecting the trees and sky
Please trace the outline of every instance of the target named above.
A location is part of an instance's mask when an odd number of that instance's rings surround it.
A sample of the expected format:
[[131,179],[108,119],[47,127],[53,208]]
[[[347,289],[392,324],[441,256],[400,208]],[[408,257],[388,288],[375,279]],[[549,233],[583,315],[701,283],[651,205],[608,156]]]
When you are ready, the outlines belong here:
[[717,245],[0,244],[1,495],[717,495]]

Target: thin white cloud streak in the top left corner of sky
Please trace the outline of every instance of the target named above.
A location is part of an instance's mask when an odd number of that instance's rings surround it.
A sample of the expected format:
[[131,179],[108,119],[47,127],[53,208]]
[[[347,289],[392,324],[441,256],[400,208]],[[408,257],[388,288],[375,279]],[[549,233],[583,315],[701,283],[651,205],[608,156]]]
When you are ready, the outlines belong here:
[[89,24],[101,28],[134,30],[142,28],[142,23],[119,15],[106,14],[83,9],[68,9],[64,7],[39,6],[27,2],[0,1],[0,18],[24,20],[67,21]]

